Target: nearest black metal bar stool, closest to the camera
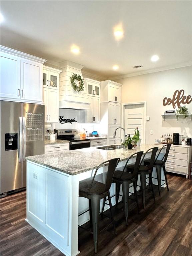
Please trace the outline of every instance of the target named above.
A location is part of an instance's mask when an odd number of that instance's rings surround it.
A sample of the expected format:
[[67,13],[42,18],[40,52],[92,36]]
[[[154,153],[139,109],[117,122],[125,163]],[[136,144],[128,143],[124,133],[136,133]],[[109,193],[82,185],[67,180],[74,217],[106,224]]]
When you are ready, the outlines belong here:
[[[98,231],[99,231],[99,213],[100,213],[99,209],[100,209],[100,200],[102,198],[108,197],[108,199],[109,199],[111,219],[112,219],[112,222],[109,225],[113,224],[115,235],[117,234],[116,229],[115,229],[114,219],[113,219],[112,204],[111,204],[111,197],[110,197],[109,189],[111,187],[115,168],[117,167],[119,160],[120,160],[120,158],[114,158],[114,159],[110,159],[108,161],[101,163],[95,170],[93,178],[85,179],[85,180],[79,182],[79,196],[89,199],[89,210],[87,210],[87,211],[89,211],[90,220],[92,221],[93,232],[91,232],[89,230],[87,230],[87,231],[89,231],[91,234],[93,234],[95,253],[97,253]],[[107,169],[105,183],[96,181],[95,176],[96,176],[98,169],[101,166],[107,165],[107,164],[108,164],[108,169]],[[87,211],[85,211],[85,212],[87,212]],[[83,213],[85,213],[85,212],[83,212]],[[81,213],[80,215],[82,215],[83,213]],[[109,225],[107,225],[107,227]],[[79,226],[79,227],[81,227],[81,226]],[[104,229],[106,229],[107,227],[105,227]],[[83,227],[81,227],[81,228],[83,228]],[[85,228],[83,228],[83,229],[85,229]],[[101,230],[101,231],[103,231],[103,230]]]

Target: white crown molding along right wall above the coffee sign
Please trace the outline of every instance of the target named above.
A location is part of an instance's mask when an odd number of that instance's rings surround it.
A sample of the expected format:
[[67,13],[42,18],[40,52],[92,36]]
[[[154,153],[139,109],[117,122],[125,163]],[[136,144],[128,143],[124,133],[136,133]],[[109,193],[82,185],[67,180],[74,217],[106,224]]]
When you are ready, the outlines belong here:
[[164,66],[164,67],[160,67],[160,68],[147,69],[147,70],[143,70],[143,71],[139,71],[139,72],[128,73],[125,75],[112,76],[112,77],[109,77],[108,79],[118,80],[118,79],[123,79],[123,78],[127,78],[127,77],[132,77],[132,76],[140,76],[140,75],[145,75],[145,74],[150,74],[150,73],[155,73],[155,72],[160,72],[160,71],[166,71],[166,70],[170,70],[170,69],[183,68],[183,67],[187,67],[187,66],[191,66],[191,65],[192,65],[191,61],[182,62],[182,63]]

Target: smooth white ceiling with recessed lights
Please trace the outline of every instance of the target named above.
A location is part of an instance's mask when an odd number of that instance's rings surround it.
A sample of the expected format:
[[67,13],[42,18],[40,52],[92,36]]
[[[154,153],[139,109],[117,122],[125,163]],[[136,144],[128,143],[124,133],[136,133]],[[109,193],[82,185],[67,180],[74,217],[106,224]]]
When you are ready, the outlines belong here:
[[[192,57],[191,7],[191,1],[1,0],[0,40],[52,63],[79,63],[103,77],[186,66]],[[116,41],[113,27],[119,23],[124,38]],[[70,51],[72,44],[80,54]],[[154,54],[159,61],[151,62]]]

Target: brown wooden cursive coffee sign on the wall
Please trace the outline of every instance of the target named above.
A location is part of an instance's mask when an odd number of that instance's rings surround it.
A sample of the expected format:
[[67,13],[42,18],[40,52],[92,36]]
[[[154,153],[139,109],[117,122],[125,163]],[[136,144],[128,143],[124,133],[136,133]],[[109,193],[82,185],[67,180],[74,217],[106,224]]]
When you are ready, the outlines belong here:
[[176,105],[178,108],[180,108],[181,104],[190,104],[192,102],[191,95],[185,96],[184,93],[184,90],[176,90],[172,99],[167,97],[163,99],[163,106],[172,104],[173,108],[175,108]]

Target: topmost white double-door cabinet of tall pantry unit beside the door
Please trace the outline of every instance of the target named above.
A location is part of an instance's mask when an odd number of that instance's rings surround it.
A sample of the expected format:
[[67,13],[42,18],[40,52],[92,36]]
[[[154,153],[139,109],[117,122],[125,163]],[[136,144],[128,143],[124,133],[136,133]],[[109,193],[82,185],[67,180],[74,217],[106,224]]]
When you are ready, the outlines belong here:
[[121,87],[122,85],[110,80],[102,81],[101,85],[101,102],[121,103]]

